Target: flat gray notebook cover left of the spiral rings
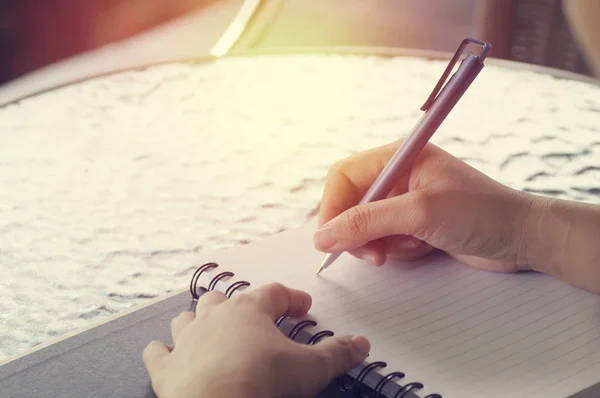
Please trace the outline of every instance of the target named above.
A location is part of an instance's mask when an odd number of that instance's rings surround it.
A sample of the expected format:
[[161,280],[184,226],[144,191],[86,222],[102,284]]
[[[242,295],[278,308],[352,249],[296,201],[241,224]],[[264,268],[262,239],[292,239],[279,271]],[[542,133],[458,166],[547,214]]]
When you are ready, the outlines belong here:
[[[188,310],[190,303],[190,293],[183,292],[8,362],[0,366],[0,396],[155,397],[142,362],[142,351],[154,339],[170,343],[170,321]],[[280,328],[288,333],[293,325],[286,320]],[[295,340],[306,342],[310,336],[302,330]],[[357,370],[351,374],[356,376]],[[378,377],[368,375],[365,384],[373,387]],[[396,384],[386,385],[386,393],[391,397],[398,390]],[[318,398],[354,396],[353,392],[339,391],[335,383],[317,395]],[[403,397],[418,398],[412,392]],[[571,398],[597,397],[600,384]]]

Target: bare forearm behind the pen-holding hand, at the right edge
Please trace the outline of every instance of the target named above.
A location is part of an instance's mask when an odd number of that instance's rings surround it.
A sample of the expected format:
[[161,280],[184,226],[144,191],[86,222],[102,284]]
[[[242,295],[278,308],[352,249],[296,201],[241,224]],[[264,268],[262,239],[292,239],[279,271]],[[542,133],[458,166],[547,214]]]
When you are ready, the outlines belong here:
[[520,261],[536,271],[600,293],[600,206],[531,199]]

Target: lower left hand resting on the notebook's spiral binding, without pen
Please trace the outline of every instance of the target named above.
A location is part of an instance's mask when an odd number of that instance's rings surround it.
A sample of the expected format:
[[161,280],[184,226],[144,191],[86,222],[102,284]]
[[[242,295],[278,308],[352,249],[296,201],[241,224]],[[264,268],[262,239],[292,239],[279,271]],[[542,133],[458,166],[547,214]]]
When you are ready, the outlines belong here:
[[329,337],[314,346],[296,343],[275,326],[283,316],[304,316],[311,297],[278,284],[227,299],[203,294],[195,314],[171,323],[174,348],[153,341],[143,353],[152,387],[161,398],[309,397],[359,365],[364,337]]

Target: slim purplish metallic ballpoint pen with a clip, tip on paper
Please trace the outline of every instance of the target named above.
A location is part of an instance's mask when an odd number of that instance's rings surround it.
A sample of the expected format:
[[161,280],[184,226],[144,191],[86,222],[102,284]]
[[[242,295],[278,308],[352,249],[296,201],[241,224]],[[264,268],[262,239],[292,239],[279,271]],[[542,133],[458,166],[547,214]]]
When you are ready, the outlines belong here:
[[[446,86],[442,88],[458,59],[469,44],[477,44],[483,47],[481,54],[476,56],[472,52],[468,52],[456,73],[450,77]],[[375,202],[389,195],[398,179],[409,170],[423,147],[429,142],[429,139],[444,119],[446,119],[452,108],[454,108],[454,105],[456,105],[481,69],[483,69],[483,60],[491,48],[492,46],[489,43],[469,38],[464,39],[460,43],[442,77],[429,95],[429,98],[427,98],[427,101],[425,101],[425,104],[421,107],[421,110],[425,111],[425,113],[421,116],[406,141],[402,143],[383,168],[359,204]],[[341,254],[328,253],[323,259],[317,275],[329,267]]]

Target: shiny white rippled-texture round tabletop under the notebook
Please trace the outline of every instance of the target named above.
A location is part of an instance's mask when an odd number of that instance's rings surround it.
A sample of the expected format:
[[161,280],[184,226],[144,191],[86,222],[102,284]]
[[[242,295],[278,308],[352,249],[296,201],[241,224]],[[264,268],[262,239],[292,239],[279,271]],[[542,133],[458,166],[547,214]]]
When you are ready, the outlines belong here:
[[[445,61],[171,64],[0,108],[0,359],[185,286],[194,255],[314,214],[329,165],[407,134]],[[600,88],[488,65],[433,142],[600,198]]]

